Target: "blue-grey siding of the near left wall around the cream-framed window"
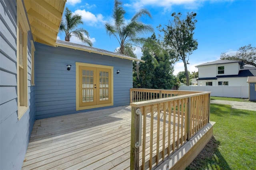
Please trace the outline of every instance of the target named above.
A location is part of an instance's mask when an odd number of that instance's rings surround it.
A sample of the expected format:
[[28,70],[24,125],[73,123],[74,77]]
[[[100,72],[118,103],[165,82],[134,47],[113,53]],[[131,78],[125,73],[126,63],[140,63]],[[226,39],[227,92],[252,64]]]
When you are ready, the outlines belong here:
[[0,0],[0,169],[21,169],[35,119],[28,33],[28,111],[18,120],[16,0]]

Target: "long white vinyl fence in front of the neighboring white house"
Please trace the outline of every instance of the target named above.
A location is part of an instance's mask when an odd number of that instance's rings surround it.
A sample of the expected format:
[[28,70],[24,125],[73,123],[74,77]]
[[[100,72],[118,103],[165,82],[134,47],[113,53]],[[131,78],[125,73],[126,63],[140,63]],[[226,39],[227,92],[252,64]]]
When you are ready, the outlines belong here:
[[179,90],[212,92],[211,96],[249,98],[249,86],[180,86]]

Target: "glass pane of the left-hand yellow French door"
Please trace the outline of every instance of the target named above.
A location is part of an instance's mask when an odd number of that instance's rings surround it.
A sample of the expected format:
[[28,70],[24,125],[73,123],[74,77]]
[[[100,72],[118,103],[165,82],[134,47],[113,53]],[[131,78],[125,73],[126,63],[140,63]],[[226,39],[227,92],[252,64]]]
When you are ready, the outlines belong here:
[[82,102],[94,102],[93,70],[82,70]]

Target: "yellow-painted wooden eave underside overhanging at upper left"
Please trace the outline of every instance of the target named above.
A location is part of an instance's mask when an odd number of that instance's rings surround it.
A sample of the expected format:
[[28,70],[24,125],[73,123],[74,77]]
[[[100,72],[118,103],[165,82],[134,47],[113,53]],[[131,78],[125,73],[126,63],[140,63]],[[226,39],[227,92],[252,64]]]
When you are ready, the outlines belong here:
[[24,0],[34,41],[55,46],[66,0]]

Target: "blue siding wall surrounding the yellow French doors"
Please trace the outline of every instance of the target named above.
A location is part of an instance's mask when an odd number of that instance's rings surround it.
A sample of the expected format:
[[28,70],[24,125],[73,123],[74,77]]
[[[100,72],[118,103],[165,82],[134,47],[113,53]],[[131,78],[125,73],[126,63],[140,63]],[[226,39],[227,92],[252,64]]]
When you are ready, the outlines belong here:
[[[132,61],[40,43],[35,47],[36,119],[130,104]],[[114,106],[76,111],[76,62],[114,67]]]

